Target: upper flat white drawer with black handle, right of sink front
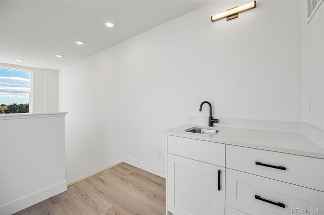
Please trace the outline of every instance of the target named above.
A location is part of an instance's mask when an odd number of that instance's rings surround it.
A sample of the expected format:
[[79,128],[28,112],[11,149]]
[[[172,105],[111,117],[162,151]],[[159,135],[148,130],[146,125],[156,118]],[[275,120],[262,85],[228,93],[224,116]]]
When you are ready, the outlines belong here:
[[324,191],[324,159],[226,145],[226,168]]

